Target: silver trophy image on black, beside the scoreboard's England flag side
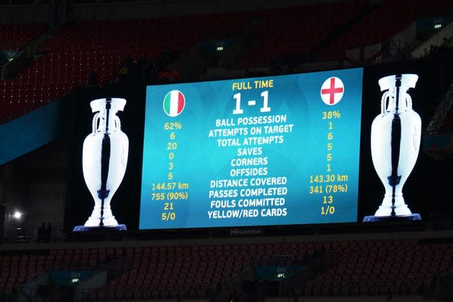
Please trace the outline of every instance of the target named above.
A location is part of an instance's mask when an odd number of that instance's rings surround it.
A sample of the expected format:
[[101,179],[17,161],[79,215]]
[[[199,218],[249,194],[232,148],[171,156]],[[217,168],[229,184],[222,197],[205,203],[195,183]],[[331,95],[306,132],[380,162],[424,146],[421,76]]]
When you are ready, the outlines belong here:
[[407,93],[415,88],[416,74],[397,74],[379,80],[381,114],[374,118],[371,128],[371,153],[374,169],[385,188],[384,199],[374,216],[363,221],[386,219],[420,220],[412,214],[403,198],[403,185],[411,174],[420,149],[421,120],[412,109]]

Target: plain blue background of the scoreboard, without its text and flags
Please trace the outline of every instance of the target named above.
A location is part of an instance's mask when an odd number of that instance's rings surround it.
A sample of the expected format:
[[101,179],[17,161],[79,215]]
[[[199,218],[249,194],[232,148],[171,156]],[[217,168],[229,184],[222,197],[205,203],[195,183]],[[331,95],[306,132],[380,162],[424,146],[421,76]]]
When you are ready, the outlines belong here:
[[[336,105],[326,105],[321,100],[321,86],[331,76],[343,81],[343,98]],[[273,80],[272,88],[254,88],[253,81]],[[233,83],[251,83],[252,89],[233,90]],[[163,100],[169,91],[178,90],[185,96],[185,108],[177,117],[168,117],[164,112]],[[260,93],[268,91],[268,107],[270,112],[260,112],[263,98]],[[241,109],[243,114],[234,115],[236,100],[233,95],[241,93]],[[256,105],[247,105],[248,100],[256,100]],[[322,119],[323,112],[340,112],[339,118]],[[140,229],[155,228],[207,228],[220,226],[261,226],[305,223],[341,223],[357,221],[357,192],[360,155],[360,120],[362,110],[362,69],[343,69],[323,71],[310,74],[294,74],[285,76],[269,76],[251,79],[235,79],[199,83],[175,83],[161,86],[148,86],[146,96],[146,112],[144,123],[144,152],[142,167],[142,193],[140,202]],[[238,126],[239,117],[260,117],[263,115],[285,115],[286,122],[292,124],[292,132],[281,134],[265,134],[263,126]],[[217,120],[231,120],[236,126],[216,127]],[[179,122],[181,129],[174,131],[164,129],[167,122]],[[332,122],[333,129],[329,129]],[[273,125],[273,124],[270,124]],[[276,124],[280,125],[280,124]],[[261,127],[263,133],[236,136],[242,143],[246,137],[269,137],[281,135],[282,144],[263,144],[252,146],[219,147],[218,137],[209,137],[210,130],[231,129],[234,127]],[[175,138],[170,134],[174,132]],[[333,139],[328,140],[332,132]],[[231,137],[230,137],[231,138]],[[177,149],[171,161],[167,144],[176,142]],[[333,149],[327,150],[331,142]],[[245,147],[261,147],[260,156],[238,156],[238,149]],[[331,153],[331,161],[327,154]],[[231,177],[233,158],[267,157],[266,165],[243,166],[237,168],[267,168],[265,176]],[[168,170],[169,163],[173,170]],[[331,172],[327,172],[327,164],[331,164]],[[173,179],[168,180],[168,172]],[[311,183],[310,176],[316,175],[348,175],[348,180],[333,184],[347,185],[347,192],[323,192],[309,194],[310,187],[322,185],[325,190],[330,183]],[[270,178],[285,177],[287,194],[281,197],[285,204],[269,207],[239,207],[237,201],[243,198],[259,197],[226,197],[210,198],[210,190],[240,190],[240,187],[211,188],[211,180],[229,178]],[[174,190],[152,190],[152,185],[168,182],[187,183],[188,188]],[[248,186],[251,188],[251,186]],[[262,188],[275,185],[260,186]],[[185,192],[183,200],[152,200],[153,193]],[[332,204],[323,204],[324,196],[332,196]],[[211,207],[212,200],[223,200],[235,207]],[[171,209],[169,205],[172,203]],[[321,207],[335,207],[333,214],[321,214]],[[165,209],[167,207],[167,209]],[[261,211],[267,209],[286,209],[286,215],[263,216]],[[209,211],[258,209],[256,217],[241,218],[210,218]],[[174,219],[163,219],[162,214],[174,215]]]

